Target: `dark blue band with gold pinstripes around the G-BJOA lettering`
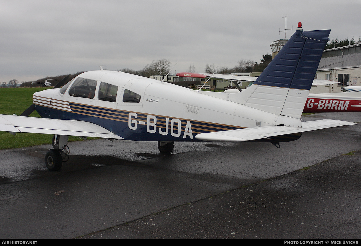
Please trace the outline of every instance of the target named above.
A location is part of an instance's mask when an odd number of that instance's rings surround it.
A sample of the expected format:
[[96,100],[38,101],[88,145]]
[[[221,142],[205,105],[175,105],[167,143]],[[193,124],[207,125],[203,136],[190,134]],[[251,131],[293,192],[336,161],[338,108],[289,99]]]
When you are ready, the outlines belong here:
[[[173,118],[169,118],[168,123],[168,134],[161,135],[159,133],[159,129],[161,131],[165,131],[166,125],[166,116],[156,116],[157,118],[157,131],[156,133],[147,132],[147,118],[148,115],[144,113],[137,113],[137,118],[132,118],[133,120],[137,120],[137,129],[131,130],[129,129],[128,121],[129,121],[129,111],[121,111],[117,109],[108,109],[101,108],[90,105],[69,103],[72,111],[65,111],[60,109],[54,109],[44,106],[36,105],[35,109],[39,113],[39,115],[43,118],[55,118],[61,120],[82,120],[91,122],[97,125],[102,126],[103,128],[112,131],[113,133],[119,135],[120,137],[126,140],[136,140],[136,141],[198,141],[195,138],[195,135],[199,133],[213,132],[213,131],[223,131],[223,130],[234,130],[239,129],[237,126],[228,126],[228,125],[218,125],[210,122],[200,122],[200,121],[190,121],[191,130],[193,139],[189,136],[183,138],[184,130],[186,129],[187,119],[179,119],[181,121],[181,136],[173,137],[170,133],[170,125],[171,120]],[[144,121],[145,125],[139,124],[139,121]],[[152,121],[151,121],[152,122]],[[178,133],[178,125],[175,124],[174,133]]]

